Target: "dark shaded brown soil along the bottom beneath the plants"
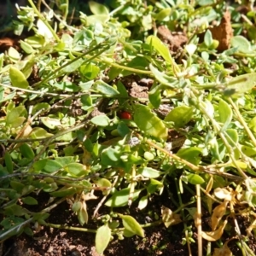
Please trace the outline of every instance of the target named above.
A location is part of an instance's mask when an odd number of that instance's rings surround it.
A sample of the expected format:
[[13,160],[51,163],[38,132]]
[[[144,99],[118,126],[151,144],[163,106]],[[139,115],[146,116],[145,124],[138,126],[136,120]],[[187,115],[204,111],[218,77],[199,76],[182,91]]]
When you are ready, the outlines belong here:
[[[47,194],[41,194],[39,205],[42,207],[48,201]],[[137,205],[137,202],[134,202]],[[160,218],[160,208],[162,206],[170,207],[170,198],[164,193],[161,196],[154,196],[149,203],[148,209],[151,212],[143,212],[137,208],[131,207],[130,214],[136,216],[137,221],[141,224],[155,222],[157,216]],[[96,201],[88,203],[89,216],[95,210]],[[33,208],[33,207],[32,207]],[[32,209],[30,209],[32,210]],[[35,209],[34,209],[35,210]],[[104,212],[104,207],[100,212]],[[114,209],[115,210],[115,209]],[[127,210],[126,210],[127,211]],[[119,208],[116,212],[125,212],[125,209]],[[132,212],[136,214],[132,214]],[[139,219],[138,219],[139,218]],[[51,224],[67,224],[75,227],[81,227],[77,216],[73,214],[70,205],[64,201],[58,207],[50,212],[48,223]],[[96,229],[93,220],[89,220],[89,224],[83,228]],[[183,223],[171,226],[166,229],[164,224],[145,228],[145,238],[134,236],[118,240],[117,236],[113,237],[108,249],[104,255],[189,255],[188,247],[182,245]],[[196,239],[196,237],[194,237]],[[193,251],[196,252],[195,244]],[[99,255],[95,248],[95,234],[74,230],[58,230],[49,227],[42,227],[39,232],[35,232],[34,236],[26,236],[22,234],[19,237],[9,239],[3,245],[4,256],[79,256],[79,255]]]

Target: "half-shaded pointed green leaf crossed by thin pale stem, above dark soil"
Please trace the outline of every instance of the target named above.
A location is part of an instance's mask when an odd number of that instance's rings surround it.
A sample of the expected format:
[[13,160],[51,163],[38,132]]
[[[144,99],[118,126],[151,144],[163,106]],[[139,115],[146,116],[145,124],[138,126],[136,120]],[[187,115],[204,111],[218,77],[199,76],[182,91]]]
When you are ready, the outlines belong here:
[[[136,201],[143,189],[135,190],[132,201]],[[113,195],[105,203],[107,207],[125,207],[128,204],[130,188],[122,189],[113,193]]]

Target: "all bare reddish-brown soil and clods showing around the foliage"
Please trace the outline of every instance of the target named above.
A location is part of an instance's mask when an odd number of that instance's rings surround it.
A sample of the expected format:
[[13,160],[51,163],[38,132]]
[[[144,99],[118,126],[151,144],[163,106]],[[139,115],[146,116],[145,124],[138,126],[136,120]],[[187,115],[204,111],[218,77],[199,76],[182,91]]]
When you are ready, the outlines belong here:
[[[230,25],[230,14],[226,13],[221,25],[212,30],[212,34],[216,35],[216,38],[221,38],[219,48],[221,50],[228,48],[228,41],[231,33]],[[169,48],[172,51],[177,51],[183,44],[186,43],[187,38],[183,33],[172,35],[170,31],[166,31],[164,27],[158,28],[159,37],[166,43],[169,44]],[[1,38],[0,47],[1,50],[8,49],[9,46],[19,47],[17,44],[17,38]],[[130,76],[126,78],[123,83],[130,95],[134,97],[146,98],[148,97],[148,86],[150,81],[140,80],[137,76]],[[168,108],[168,106],[166,107]],[[165,110],[165,108],[164,108]],[[165,112],[163,110],[163,112]],[[165,113],[162,113],[165,115]],[[160,217],[161,207],[172,208],[172,205],[166,205],[166,202],[170,204],[170,196],[175,194],[176,187],[173,184],[170,185],[170,190],[164,190],[163,194],[152,197],[148,208],[151,212],[139,212],[137,208],[132,208],[138,217],[137,221],[141,224],[147,224],[152,221],[157,221],[157,216]],[[172,191],[173,190],[173,191]],[[42,208],[47,206],[47,194],[40,193],[38,195],[38,205]],[[89,215],[95,210],[98,201],[90,201],[88,203]],[[183,202],[185,203],[185,202]],[[195,207],[195,206],[194,206]],[[33,208],[30,209],[33,211]],[[37,210],[37,208],[34,208]],[[125,211],[125,210],[123,210]],[[104,212],[104,207],[101,208],[101,213]],[[122,212],[122,209],[119,209]],[[203,229],[208,229],[207,212],[204,213]],[[188,224],[191,220],[188,219]],[[74,215],[70,206],[66,201],[62,202],[58,207],[55,207],[51,211],[48,222],[51,224],[72,224],[74,227],[79,227],[78,218]],[[241,231],[245,233],[246,220],[240,219]],[[230,223],[231,224],[231,223]],[[93,221],[90,221],[90,225],[87,228],[96,229]],[[113,241],[110,242],[108,249],[104,255],[163,255],[163,256],[176,256],[176,255],[189,255],[187,245],[182,245],[184,237],[183,223],[166,228],[164,224],[156,225],[145,229],[145,238],[139,238],[134,236],[132,238],[125,238],[125,240],[118,240],[116,236],[113,237]],[[196,240],[196,230],[192,230],[192,237]],[[35,233],[34,236],[26,236],[22,234],[19,237],[11,238],[4,241],[3,244],[3,255],[4,256],[79,256],[79,255],[93,255],[97,256],[95,248],[95,234],[88,232],[80,232],[74,230],[59,230],[49,227],[42,227],[41,230]],[[206,245],[205,245],[206,246]],[[254,239],[249,242],[249,246],[255,252]],[[195,243],[191,244],[193,255],[196,254]],[[230,242],[230,249],[233,250],[234,255],[240,255],[237,252],[237,247],[232,246]],[[1,255],[2,256],[2,255]]]

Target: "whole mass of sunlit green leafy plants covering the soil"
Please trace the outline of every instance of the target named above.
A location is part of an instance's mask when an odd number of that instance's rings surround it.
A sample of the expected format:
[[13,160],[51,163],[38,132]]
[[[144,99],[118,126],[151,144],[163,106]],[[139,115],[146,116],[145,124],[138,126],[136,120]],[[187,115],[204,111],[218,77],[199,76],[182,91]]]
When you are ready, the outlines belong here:
[[[95,232],[96,250],[103,253],[112,239],[143,237],[150,226],[115,209],[147,209],[172,179],[177,207],[163,207],[157,223],[168,228],[186,220],[189,249],[195,225],[199,253],[202,238],[211,243],[227,234],[214,255],[230,255],[228,242],[235,239],[253,255],[246,243],[256,204],[253,10],[241,22],[229,7],[235,35],[230,49],[218,52],[208,28],[221,20],[224,1],[90,1],[91,14],[80,12],[76,26],[67,0],[41,12],[28,2],[18,8],[15,33],[30,35],[20,40],[20,50],[0,55],[0,240],[32,236],[41,225],[72,230],[47,221],[51,209],[68,201],[79,230]],[[160,25],[186,30],[179,55],[156,36]],[[129,94],[125,78],[133,74],[152,81],[148,97]],[[169,110],[163,117],[157,110],[164,104]],[[171,131],[183,138],[177,147]],[[51,201],[32,212],[26,206],[38,205],[40,191]],[[89,200],[98,200],[93,216]],[[102,215],[102,207],[108,213]],[[211,214],[208,230],[202,230],[201,209]],[[248,219],[247,236],[237,215]],[[90,218],[95,230],[84,228]]]

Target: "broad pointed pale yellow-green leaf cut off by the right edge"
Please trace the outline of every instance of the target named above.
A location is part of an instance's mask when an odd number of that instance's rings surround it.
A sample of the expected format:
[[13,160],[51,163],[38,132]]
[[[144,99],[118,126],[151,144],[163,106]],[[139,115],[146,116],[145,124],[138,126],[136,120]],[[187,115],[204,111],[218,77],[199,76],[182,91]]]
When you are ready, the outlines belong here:
[[230,79],[224,89],[224,94],[230,90],[234,93],[244,93],[251,90],[256,85],[256,73],[246,73],[236,78]]

